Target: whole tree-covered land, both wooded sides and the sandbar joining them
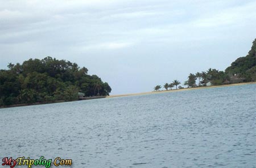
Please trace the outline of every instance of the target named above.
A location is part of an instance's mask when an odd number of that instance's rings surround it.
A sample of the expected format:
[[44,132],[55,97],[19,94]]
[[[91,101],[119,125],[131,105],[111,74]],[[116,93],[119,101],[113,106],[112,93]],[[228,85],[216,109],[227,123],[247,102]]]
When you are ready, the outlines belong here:
[[[119,97],[138,94],[109,96],[112,88],[97,75],[88,75],[88,69],[77,63],[57,60],[52,57],[29,59],[22,64],[9,63],[8,70],[0,70],[0,107],[46,104],[102,97]],[[236,85],[256,81],[256,38],[245,57],[234,61],[225,71],[209,68],[208,71],[189,74],[184,82],[187,88],[205,86]],[[180,81],[164,84],[166,91],[172,87],[189,90],[180,86]],[[178,87],[179,86],[179,87]],[[160,91],[156,85],[155,91]],[[169,89],[170,88],[170,89]]]

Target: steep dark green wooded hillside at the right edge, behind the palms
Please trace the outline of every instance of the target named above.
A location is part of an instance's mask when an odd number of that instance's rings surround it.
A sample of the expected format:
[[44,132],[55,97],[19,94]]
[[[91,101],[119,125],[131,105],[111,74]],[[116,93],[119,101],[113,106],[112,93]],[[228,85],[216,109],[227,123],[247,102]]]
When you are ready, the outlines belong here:
[[240,57],[225,72],[229,75],[240,75],[245,81],[256,81],[256,38],[246,57]]

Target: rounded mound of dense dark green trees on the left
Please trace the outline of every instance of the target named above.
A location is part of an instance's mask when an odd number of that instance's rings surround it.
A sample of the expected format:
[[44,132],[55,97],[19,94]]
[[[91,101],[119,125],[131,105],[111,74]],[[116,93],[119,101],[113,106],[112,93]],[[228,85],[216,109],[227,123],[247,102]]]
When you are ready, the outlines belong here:
[[0,70],[0,106],[78,100],[85,96],[109,95],[111,88],[96,75],[88,75],[76,63],[46,57]]

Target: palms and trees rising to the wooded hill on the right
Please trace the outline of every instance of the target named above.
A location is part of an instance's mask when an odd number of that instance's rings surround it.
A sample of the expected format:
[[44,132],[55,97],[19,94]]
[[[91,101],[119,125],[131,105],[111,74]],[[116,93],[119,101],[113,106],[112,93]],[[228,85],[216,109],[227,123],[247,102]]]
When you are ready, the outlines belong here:
[[[164,84],[163,87],[168,90],[172,89],[175,83],[174,80],[171,84]],[[197,82],[198,81],[198,82]],[[240,57],[234,61],[231,66],[226,68],[225,71],[218,71],[216,69],[209,68],[207,71],[196,72],[196,74],[189,74],[188,80],[184,82],[187,87],[204,87],[209,85],[222,85],[222,84],[234,84],[242,82],[256,81],[256,38],[253,41],[253,46],[248,52],[246,57]],[[156,85],[155,91],[160,91],[161,85]],[[183,87],[179,87],[183,88]]]

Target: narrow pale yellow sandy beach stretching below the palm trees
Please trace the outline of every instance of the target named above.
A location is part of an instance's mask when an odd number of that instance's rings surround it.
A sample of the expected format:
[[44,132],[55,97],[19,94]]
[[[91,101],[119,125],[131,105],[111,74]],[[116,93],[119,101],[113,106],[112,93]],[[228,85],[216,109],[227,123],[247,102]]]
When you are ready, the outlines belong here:
[[144,94],[159,94],[159,93],[166,93],[166,92],[192,91],[192,90],[195,90],[195,89],[210,89],[210,88],[220,88],[220,87],[231,87],[231,86],[247,85],[247,84],[256,84],[256,82],[216,85],[216,86],[210,86],[210,87],[172,89],[172,90],[168,90],[168,91],[152,91],[152,92],[130,93],[130,94],[115,94],[115,95],[107,96],[106,98],[124,97],[124,96],[139,96],[139,95],[144,95]]

